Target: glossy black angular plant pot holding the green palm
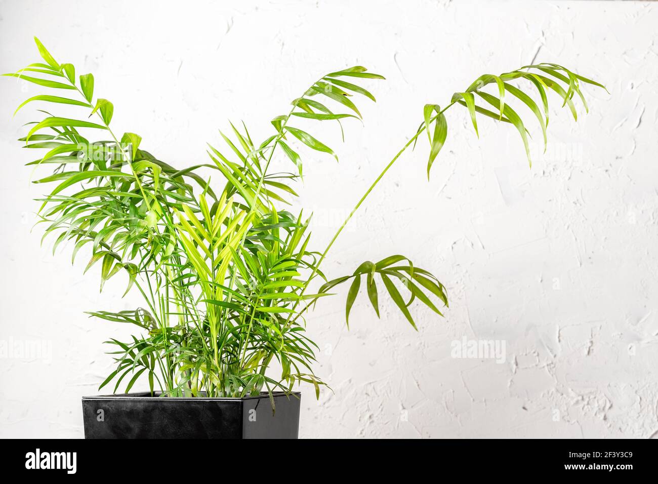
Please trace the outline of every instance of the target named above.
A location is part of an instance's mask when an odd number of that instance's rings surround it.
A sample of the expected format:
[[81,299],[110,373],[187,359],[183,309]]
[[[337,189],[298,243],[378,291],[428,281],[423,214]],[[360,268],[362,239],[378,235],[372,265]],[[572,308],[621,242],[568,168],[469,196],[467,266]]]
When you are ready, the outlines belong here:
[[169,398],[150,393],[82,397],[86,439],[297,439],[301,394]]

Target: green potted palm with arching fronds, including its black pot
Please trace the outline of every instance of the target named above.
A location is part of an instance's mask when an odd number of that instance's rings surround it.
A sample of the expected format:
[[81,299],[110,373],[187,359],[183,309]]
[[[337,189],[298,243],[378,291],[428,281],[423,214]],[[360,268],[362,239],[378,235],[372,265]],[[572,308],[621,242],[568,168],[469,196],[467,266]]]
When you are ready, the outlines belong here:
[[[114,105],[95,95],[92,74],[76,76],[72,64],[59,63],[35,41],[43,61],[5,76],[55,94],[34,95],[16,111],[39,101],[82,113],[73,118],[47,113],[20,138],[26,148],[43,150],[28,165],[54,167],[52,175],[36,180],[54,187],[39,199],[38,223],[45,224],[45,235],[52,234],[55,248],[72,245],[73,259],[80,250],[88,252],[85,270],[101,266],[101,290],[105,281],[126,273],[126,292],[143,297],[143,306],[134,310],[89,313],[135,325],[138,333],[107,341],[116,367],[99,389],[111,385],[113,394],[82,399],[88,438],[297,437],[295,385],[311,383],[316,396],[325,385],[313,373],[316,344],[305,335],[305,317],[318,299],[349,283],[349,324],[363,286],[377,316],[384,294],[414,328],[413,302],[437,315],[448,304],[442,282],[403,255],[365,261],[334,279],[322,272],[343,227],[395,161],[427,136],[429,176],[447,136],[447,110],[465,107],[476,134],[482,117],[518,130],[530,162],[526,124],[509,99],[536,117],[545,144],[549,92],[576,119],[574,96],[585,103],[580,85],[603,88],[565,67],[542,63],[485,74],[446,105],[425,105],[415,134],[376,176],[328,246],[316,250],[310,219],[285,204],[296,196],[304,151],[338,157],[297,126],[313,120],[338,122],[342,129],[342,122],[361,119],[355,97],[374,101],[363,84],[382,76],[359,66],[326,74],[292,101],[287,114],[272,119],[263,142],[254,142],[244,124],[231,124],[228,134],[221,133],[225,148],[209,146],[206,161],[174,167],[147,151],[138,134],[111,127]],[[527,86],[517,86],[521,82]],[[490,86],[494,94],[486,91]],[[280,158],[290,160],[290,172],[272,173],[272,161]],[[130,393],[138,381],[147,381],[148,389]],[[120,389],[124,394],[116,394]]]

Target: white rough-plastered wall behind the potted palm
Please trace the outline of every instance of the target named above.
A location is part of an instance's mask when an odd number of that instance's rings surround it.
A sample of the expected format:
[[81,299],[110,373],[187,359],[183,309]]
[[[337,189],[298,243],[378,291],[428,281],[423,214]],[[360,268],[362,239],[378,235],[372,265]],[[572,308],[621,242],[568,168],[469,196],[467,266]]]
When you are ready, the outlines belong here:
[[[134,131],[165,161],[205,159],[217,128],[243,119],[268,136],[323,72],[363,64],[365,127],[347,123],[341,157],[307,155],[302,202],[323,248],[378,171],[413,134],[426,102],[445,104],[484,72],[536,58],[602,80],[578,123],[553,98],[549,150],[534,130],[534,168],[518,135],[449,111],[449,138],[425,176],[427,148],[399,160],[331,253],[330,276],[409,255],[449,288],[445,319],[416,308],[416,333],[365,296],[343,324],[344,290],[318,304],[309,331],[318,375],[304,389],[303,437],[650,437],[658,433],[658,5],[617,1],[0,2],[0,70],[38,59],[93,72]],[[221,6],[220,6],[221,5]],[[0,339],[45,340],[51,358],[0,360],[1,437],[80,437],[80,396],[111,360],[101,342],[126,327],[82,311],[130,308],[124,281],[99,294],[97,273],[53,257],[30,233],[43,188],[15,141],[34,94],[0,91]],[[33,175],[36,176],[36,175]],[[119,283],[120,282],[120,283]],[[505,340],[507,359],[451,358],[451,341]],[[406,412],[405,412],[406,411]]]

